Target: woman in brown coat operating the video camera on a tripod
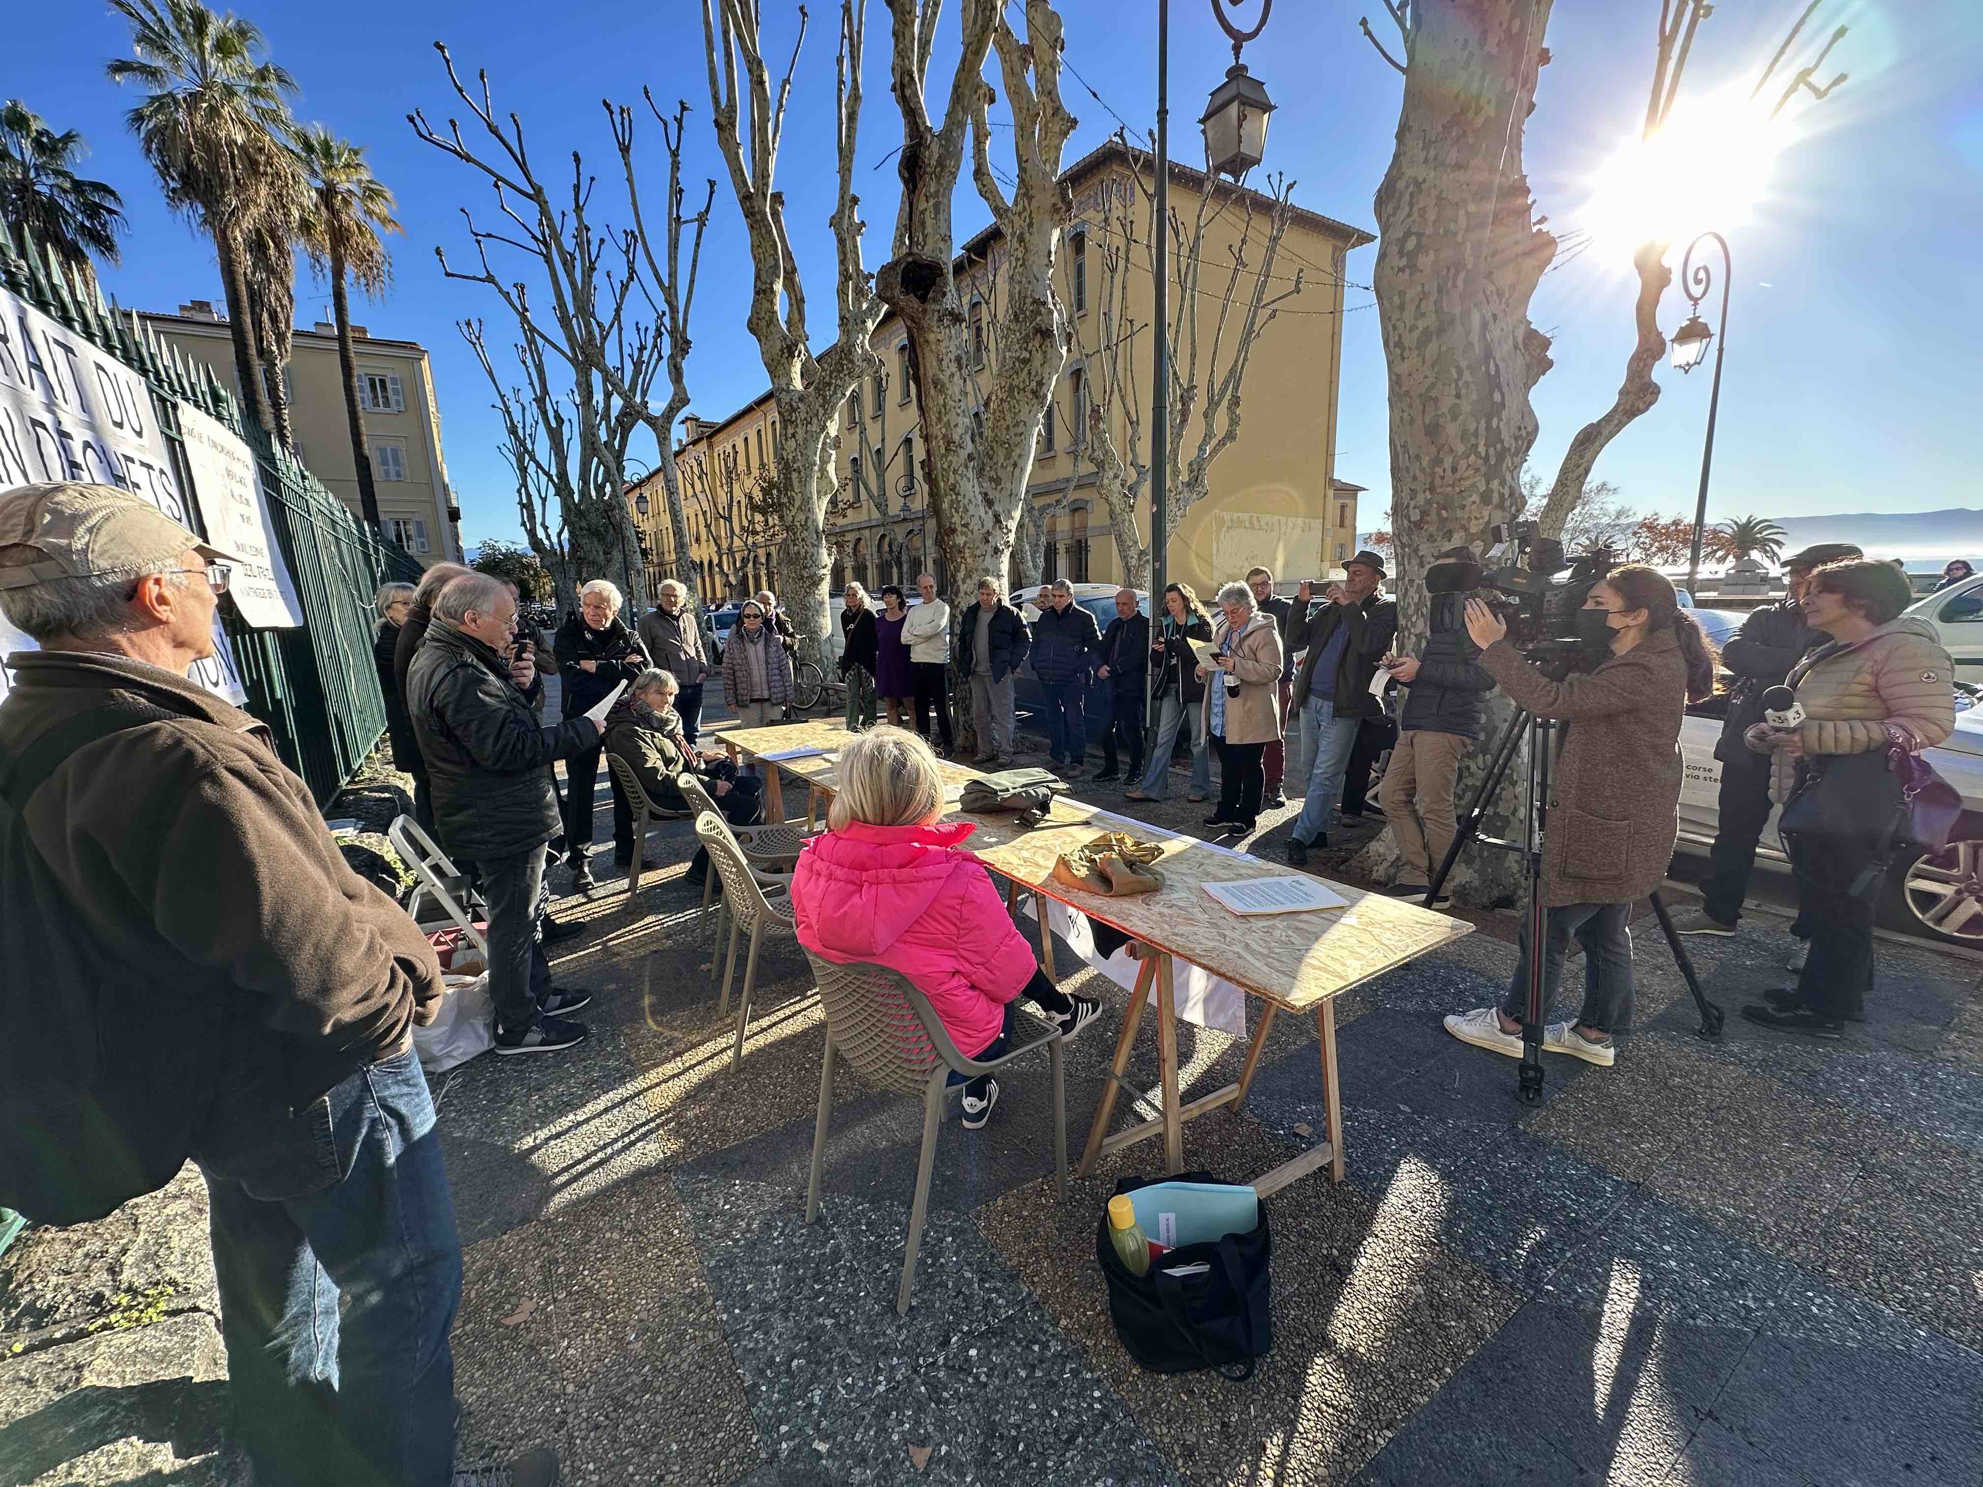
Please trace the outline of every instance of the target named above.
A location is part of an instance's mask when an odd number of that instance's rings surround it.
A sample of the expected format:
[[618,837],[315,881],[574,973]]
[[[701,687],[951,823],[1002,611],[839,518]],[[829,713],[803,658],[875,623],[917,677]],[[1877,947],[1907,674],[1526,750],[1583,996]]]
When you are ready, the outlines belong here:
[[[1547,1023],[1543,1049],[1610,1067],[1614,1033],[1632,1015],[1632,904],[1656,890],[1674,855],[1680,807],[1680,722],[1688,698],[1715,686],[1713,646],[1674,585],[1642,563],[1612,569],[1576,611],[1594,670],[1553,682],[1507,642],[1507,623],[1467,601],[1481,670],[1517,708],[1565,724],[1543,833],[1543,1021],[1563,981],[1571,936],[1584,948],[1584,1003],[1575,1023]],[[1529,920],[1501,1007],[1446,1019],[1461,1043],[1521,1057],[1529,1001]]]

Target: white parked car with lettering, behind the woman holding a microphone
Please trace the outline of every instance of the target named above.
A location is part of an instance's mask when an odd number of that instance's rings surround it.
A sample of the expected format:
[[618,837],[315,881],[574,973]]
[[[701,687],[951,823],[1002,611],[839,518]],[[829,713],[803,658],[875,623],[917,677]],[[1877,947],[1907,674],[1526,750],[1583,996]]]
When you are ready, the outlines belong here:
[[[1983,686],[1957,682],[1955,708],[1955,732],[1924,755],[1963,795],[1955,841],[1935,857],[1910,857],[1894,864],[1880,918],[1892,930],[1983,950]],[[1715,742],[1721,738],[1725,710],[1727,694],[1690,706],[1680,730],[1686,765],[1680,785],[1680,851],[1705,855],[1715,841],[1721,789]],[[1757,862],[1789,868],[1777,839],[1775,811],[1763,827]]]

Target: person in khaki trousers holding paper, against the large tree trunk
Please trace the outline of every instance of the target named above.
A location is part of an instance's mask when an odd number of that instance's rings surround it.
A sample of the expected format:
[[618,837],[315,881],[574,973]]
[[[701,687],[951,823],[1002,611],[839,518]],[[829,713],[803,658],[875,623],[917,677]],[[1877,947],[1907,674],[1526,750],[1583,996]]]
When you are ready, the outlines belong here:
[[1479,664],[1479,646],[1465,630],[1465,595],[1458,587],[1440,591],[1444,577],[1469,569],[1479,577],[1473,549],[1450,547],[1440,553],[1438,565],[1448,573],[1434,567],[1426,575],[1428,587],[1434,587],[1426,644],[1418,656],[1384,656],[1382,662],[1406,688],[1398,742],[1378,787],[1384,819],[1406,862],[1392,892],[1404,898],[1424,896],[1446,860],[1446,849],[1454,845],[1459,759],[1481,736],[1481,692],[1493,690],[1493,678]]

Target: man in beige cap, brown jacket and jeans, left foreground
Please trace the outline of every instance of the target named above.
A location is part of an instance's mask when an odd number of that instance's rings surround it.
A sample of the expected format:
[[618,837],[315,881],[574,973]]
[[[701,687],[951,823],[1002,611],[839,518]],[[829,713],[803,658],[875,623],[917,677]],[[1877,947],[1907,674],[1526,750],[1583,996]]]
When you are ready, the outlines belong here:
[[440,966],[268,728],[186,678],[224,561],[111,486],[0,492],[0,613],[40,646],[0,702],[0,1201],[79,1221],[190,1158],[256,1477],[442,1487],[462,1255],[412,1053]]

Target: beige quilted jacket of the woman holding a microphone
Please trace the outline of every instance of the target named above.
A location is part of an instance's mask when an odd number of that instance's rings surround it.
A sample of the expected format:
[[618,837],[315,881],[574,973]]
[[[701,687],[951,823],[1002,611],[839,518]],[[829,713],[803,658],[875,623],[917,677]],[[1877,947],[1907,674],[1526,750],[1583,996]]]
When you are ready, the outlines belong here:
[[1914,615],[1864,640],[1818,646],[1791,668],[1805,708],[1805,753],[1870,753],[1888,726],[1929,749],[1955,730],[1955,662],[1935,627]]

